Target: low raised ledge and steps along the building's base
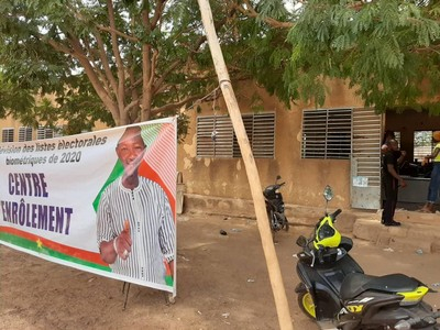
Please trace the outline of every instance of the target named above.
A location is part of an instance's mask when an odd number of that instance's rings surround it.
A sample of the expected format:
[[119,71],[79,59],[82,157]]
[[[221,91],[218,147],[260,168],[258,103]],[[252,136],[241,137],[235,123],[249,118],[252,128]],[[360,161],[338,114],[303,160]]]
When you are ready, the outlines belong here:
[[[185,195],[184,210],[255,219],[252,201],[241,199]],[[331,211],[333,209],[329,209],[329,212]],[[322,215],[322,207],[286,205],[286,216],[294,226],[312,227]],[[431,215],[397,209],[395,220],[402,222],[400,227],[383,226],[381,216],[381,211],[343,210],[338,217],[337,226],[342,233],[378,246],[418,253],[440,253],[440,212]]]

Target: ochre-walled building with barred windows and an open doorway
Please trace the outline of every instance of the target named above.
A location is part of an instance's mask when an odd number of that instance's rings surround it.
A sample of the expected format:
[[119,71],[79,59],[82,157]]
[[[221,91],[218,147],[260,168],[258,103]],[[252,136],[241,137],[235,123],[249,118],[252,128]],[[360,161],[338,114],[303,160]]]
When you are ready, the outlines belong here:
[[[285,201],[322,207],[322,190],[330,185],[341,208],[381,208],[381,145],[384,131],[393,130],[407,151],[407,166],[420,165],[431,141],[420,136],[440,130],[440,117],[405,111],[376,114],[365,109],[343,82],[333,81],[322,108],[292,105],[251,82],[233,86],[263,186],[277,175],[286,182]],[[252,110],[255,99],[263,109]],[[193,110],[189,134],[179,146],[178,170],[187,195],[200,198],[252,200],[244,163],[224,101],[219,98]],[[427,140],[427,139],[425,139]],[[420,167],[420,166],[419,166]],[[408,188],[400,201],[424,202],[429,178],[408,170]],[[262,187],[263,189],[263,187]]]

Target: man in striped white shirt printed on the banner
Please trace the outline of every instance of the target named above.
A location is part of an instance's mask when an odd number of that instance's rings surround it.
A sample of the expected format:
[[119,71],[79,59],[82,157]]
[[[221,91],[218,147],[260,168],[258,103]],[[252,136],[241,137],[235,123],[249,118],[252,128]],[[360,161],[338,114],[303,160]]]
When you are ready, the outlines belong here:
[[165,191],[138,174],[145,152],[141,128],[129,127],[116,152],[124,172],[106,188],[99,202],[101,258],[113,273],[166,284],[166,274],[174,274],[176,228]]

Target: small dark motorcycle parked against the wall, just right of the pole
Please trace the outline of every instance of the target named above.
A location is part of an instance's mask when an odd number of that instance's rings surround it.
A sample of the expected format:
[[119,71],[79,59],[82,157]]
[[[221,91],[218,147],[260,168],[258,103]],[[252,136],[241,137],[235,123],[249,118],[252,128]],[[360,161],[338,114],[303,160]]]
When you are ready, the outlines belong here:
[[274,240],[275,240],[275,232],[282,229],[288,231],[289,229],[288,220],[286,218],[286,215],[284,213],[285,207],[284,207],[283,195],[279,191],[280,187],[283,187],[285,183],[278,184],[278,180],[280,178],[282,177],[277,175],[275,184],[267,186],[263,190],[263,196],[266,202],[267,218],[271,224],[272,238]]

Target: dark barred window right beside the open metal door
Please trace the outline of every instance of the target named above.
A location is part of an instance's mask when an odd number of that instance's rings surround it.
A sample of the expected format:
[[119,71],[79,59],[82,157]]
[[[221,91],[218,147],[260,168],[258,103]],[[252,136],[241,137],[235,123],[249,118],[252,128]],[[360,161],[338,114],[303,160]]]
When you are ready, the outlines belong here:
[[348,160],[352,109],[304,110],[301,158]]

